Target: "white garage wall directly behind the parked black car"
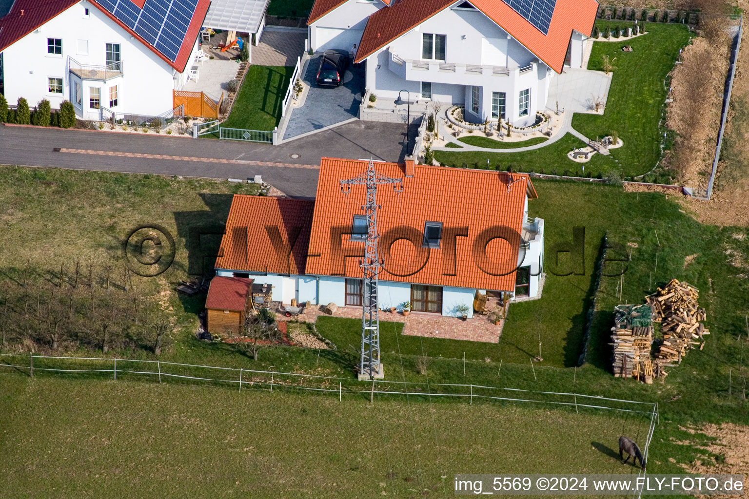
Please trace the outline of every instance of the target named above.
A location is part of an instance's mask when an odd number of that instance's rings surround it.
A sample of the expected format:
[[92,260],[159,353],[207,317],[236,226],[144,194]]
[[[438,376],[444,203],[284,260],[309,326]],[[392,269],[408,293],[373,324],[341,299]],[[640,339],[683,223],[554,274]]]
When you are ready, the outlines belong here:
[[369,16],[384,4],[379,0],[348,0],[309,25],[309,43],[312,50],[350,50],[362,39]]

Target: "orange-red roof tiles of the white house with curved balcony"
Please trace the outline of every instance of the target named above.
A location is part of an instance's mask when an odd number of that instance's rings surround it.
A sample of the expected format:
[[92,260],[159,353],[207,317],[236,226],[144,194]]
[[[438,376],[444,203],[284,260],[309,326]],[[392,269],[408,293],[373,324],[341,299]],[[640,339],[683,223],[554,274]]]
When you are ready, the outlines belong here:
[[[401,0],[373,13],[362,35],[357,62],[458,1],[461,0]],[[598,12],[596,0],[557,0],[548,34],[543,34],[504,1],[470,2],[557,73],[562,72],[572,30],[589,35]]]

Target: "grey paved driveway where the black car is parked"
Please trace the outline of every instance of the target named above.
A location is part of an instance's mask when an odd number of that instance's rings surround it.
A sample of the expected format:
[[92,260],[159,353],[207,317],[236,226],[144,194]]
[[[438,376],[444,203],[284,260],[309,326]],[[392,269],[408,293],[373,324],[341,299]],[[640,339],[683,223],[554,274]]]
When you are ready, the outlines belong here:
[[292,109],[284,139],[315,132],[326,126],[351,120],[359,114],[359,104],[365,86],[363,64],[360,67],[350,66],[340,87],[322,88],[315,83],[321,57],[322,55],[317,55],[306,63],[304,82],[309,85],[309,91],[303,105]]

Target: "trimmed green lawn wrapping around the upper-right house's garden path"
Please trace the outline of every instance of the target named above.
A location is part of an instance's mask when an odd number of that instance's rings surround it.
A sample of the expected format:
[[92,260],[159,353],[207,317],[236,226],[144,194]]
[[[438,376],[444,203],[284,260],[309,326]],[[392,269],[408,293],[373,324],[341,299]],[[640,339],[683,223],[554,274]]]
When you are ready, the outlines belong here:
[[[625,27],[629,22],[597,21],[603,29],[608,24]],[[666,90],[664,79],[691,34],[679,24],[648,22],[648,34],[626,42],[596,42],[593,44],[588,69],[601,70],[601,56],[616,57],[610,93],[603,115],[575,114],[572,126],[589,138],[609,135],[616,130],[624,147],[611,150],[610,156],[596,154],[582,164],[568,159],[566,154],[583,142],[567,135],[554,144],[524,153],[488,153],[476,151],[435,151],[434,159],[443,165],[468,168],[506,169],[515,171],[544,171],[547,174],[567,174],[604,177],[609,171],[619,171],[624,177],[646,174],[655,168],[660,157],[660,144],[666,129],[658,126],[664,112]],[[633,52],[622,52],[631,45]],[[478,137],[476,137],[478,139]],[[478,145],[478,144],[476,144]],[[488,161],[488,162],[487,162]],[[667,174],[651,175],[646,179],[655,183],[671,183]]]

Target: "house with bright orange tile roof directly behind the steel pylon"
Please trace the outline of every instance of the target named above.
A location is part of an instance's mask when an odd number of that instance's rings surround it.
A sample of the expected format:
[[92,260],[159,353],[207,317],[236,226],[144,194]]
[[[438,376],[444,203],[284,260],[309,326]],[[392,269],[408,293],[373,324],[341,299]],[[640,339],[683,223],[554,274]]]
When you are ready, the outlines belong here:
[[[476,293],[539,296],[544,221],[528,216],[527,174],[374,165],[398,180],[377,189],[380,307],[459,316]],[[314,201],[234,195],[216,274],[271,284],[274,301],[360,307],[366,188],[342,180],[368,167],[323,158]]]

